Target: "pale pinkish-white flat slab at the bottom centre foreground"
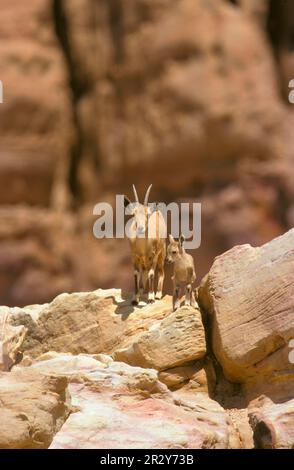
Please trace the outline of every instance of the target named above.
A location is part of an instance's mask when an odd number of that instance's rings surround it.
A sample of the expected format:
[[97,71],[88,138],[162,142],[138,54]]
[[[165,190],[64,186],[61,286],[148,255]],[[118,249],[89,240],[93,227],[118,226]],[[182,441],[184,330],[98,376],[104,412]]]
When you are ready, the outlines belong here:
[[74,412],[52,449],[227,448],[225,411],[205,394],[174,396],[152,369],[104,355],[47,354],[30,369],[67,375]]

